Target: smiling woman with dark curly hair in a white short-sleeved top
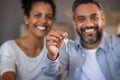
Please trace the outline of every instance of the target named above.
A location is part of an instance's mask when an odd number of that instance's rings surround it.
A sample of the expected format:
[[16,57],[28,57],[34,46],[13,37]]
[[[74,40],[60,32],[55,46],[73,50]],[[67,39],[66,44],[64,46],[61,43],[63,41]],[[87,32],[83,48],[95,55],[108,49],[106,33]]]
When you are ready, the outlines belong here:
[[47,55],[44,37],[55,17],[53,0],[22,0],[28,35],[6,41],[0,49],[2,80],[57,80],[41,72]]

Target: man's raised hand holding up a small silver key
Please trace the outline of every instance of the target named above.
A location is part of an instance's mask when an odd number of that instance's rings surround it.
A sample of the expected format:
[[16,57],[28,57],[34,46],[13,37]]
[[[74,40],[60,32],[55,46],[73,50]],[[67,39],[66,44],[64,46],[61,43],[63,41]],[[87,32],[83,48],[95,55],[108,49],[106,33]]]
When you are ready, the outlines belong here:
[[46,36],[46,47],[48,49],[48,58],[55,60],[58,56],[59,50],[65,40],[66,51],[67,51],[67,37],[68,33],[60,30],[52,30]]

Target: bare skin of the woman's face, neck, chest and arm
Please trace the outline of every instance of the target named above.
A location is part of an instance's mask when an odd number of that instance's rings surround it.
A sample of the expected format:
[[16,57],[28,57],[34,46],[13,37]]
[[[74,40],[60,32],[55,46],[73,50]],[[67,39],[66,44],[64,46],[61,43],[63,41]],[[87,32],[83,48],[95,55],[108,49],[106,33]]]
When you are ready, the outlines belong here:
[[[36,57],[40,54],[44,37],[52,28],[53,9],[50,4],[36,2],[32,5],[30,16],[24,15],[25,24],[28,24],[28,35],[16,39],[17,45],[24,51],[28,57]],[[38,29],[38,26],[44,26],[44,30]],[[16,80],[15,72],[5,72],[2,80]]]

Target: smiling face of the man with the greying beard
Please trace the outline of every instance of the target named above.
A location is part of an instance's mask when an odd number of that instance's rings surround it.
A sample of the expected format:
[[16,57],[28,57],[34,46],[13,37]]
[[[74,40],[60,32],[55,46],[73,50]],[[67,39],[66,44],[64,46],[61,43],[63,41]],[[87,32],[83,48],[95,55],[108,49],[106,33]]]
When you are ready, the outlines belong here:
[[76,8],[73,25],[82,41],[95,43],[102,36],[104,24],[104,15],[95,4],[81,4]]

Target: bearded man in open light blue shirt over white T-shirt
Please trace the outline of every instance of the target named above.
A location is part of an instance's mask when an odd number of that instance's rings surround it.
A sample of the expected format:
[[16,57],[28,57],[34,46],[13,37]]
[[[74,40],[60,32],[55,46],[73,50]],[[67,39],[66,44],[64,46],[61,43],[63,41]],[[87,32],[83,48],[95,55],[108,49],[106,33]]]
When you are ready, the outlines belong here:
[[120,80],[120,39],[103,31],[105,16],[95,0],[75,0],[73,25],[80,39],[62,47],[68,34],[51,31],[46,37],[48,56],[42,71],[60,75],[68,70],[66,80]]

